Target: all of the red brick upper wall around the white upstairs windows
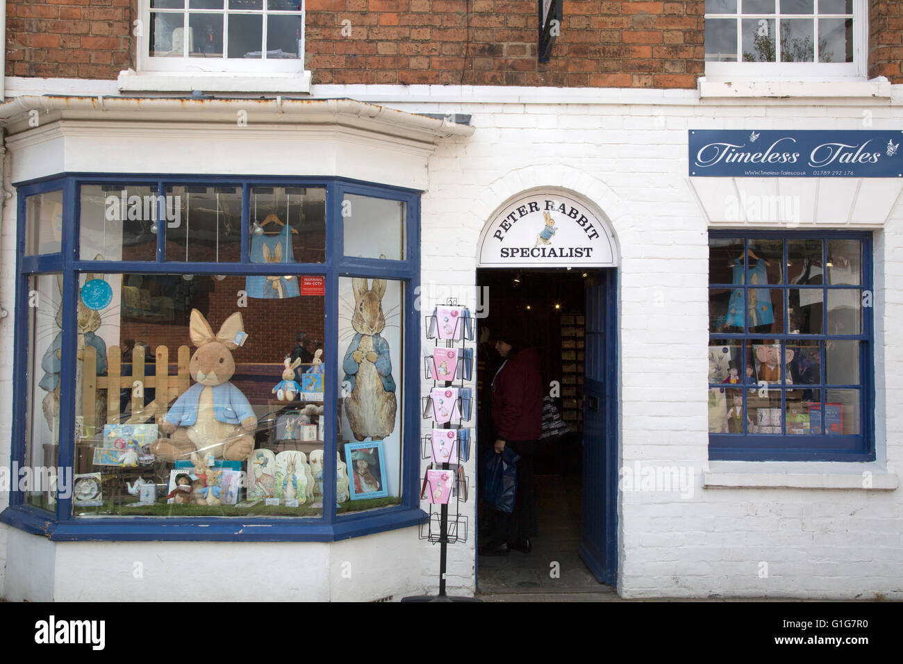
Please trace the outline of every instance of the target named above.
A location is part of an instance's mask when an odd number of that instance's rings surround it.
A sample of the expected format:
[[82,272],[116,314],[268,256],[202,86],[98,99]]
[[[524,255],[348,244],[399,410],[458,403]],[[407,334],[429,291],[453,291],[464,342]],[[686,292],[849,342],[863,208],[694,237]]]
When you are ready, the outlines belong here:
[[[903,83],[901,7],[870,0],[870,77]],[[694,88],[703,12],[703,0],[567,0],[540,64],[535,0],[307,0],[307,66],[314,83]],[[116,79],[135,66],[136,18],[136,0],[8,2],[6,74]]]

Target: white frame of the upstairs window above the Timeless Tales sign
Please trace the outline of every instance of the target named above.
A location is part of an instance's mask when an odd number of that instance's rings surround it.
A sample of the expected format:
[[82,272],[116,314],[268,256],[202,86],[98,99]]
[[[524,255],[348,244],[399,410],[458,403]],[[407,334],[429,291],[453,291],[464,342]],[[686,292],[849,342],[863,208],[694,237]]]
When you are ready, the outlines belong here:
[[[742,2],[739,2],[742,9]],[[816,5],[817,9],[817,5]],[[820,17],[821,14],[779,14],[780,3],[776,4],[776,14],[749,14],[749,18],[774,17],[776,29],[781,17]],[[824,14],[826,17],[841,14]],[[744,14],[705,14],[705,20],[717,18],[738,19]],[[817,18],[815,19],[817,20]],[[737,21],[738,45],[742,43],[740,21]],[[852,62],[709,62],[705,63],[705,77],[717,79],[767,79],[767,80],[838,80],[865,79],[867,67],[866,44],[868,43],[868,11],[865,0],[853,0],[852,5]],[[704,43],[704,42],[703,42]]]

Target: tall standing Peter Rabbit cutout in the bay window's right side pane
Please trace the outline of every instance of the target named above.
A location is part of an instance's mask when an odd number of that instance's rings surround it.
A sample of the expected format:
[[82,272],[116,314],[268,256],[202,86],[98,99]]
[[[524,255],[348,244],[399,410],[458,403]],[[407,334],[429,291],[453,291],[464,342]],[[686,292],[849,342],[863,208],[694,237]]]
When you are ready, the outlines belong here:
[[392,376],[392,357],[401,352],[399,304],[383,311],[386,290],[400,302],[400,286],[385,279],[348,279],[340,281],[340,343],[348,342],[340,371],[344,413],[352,435],[358,441],[382,440],[395,431],[396,382]]

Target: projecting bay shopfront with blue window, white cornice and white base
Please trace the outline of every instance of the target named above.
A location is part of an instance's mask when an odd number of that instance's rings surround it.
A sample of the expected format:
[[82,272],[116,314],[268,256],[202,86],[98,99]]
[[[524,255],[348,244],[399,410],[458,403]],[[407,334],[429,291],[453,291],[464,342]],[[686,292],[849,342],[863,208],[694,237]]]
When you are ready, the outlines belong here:
[[97,103],[12,102],[5,595],[418,590],[420,191],[435,142],[472,130]]

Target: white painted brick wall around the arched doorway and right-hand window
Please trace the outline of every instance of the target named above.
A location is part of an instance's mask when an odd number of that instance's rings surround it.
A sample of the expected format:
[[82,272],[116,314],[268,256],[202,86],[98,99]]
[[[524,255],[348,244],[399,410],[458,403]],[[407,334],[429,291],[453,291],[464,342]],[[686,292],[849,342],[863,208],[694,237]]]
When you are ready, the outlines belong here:
[[[417,104],[392,106],[421,112]],[[492,212],[529,188],[572,189],[612,220],[621,255],[623,464],[695,469],[693,495],[686,500],[679,492],[619,494],[620,594],[903,598],[901,490],[712,490],[702,483],[708,467],[708,229],[685,176],[686,131],[856,129],[861,109],[526,103],[504,105],[507,112],[499,114],[497,106],[440,105],[442,113],[472,114],[478,130],[461,144],[440,145],[430,160],[423,280],[473,284],[474,257],[466,252],[455,252],[451,270],[429,267],[446,258],[440,236],[451,231],[459,245],[472,246]],[[526,119],[517,119],[521,113]],[[875,128],[899,126],[903,116],[898,105],[872,113]],[[824,227],[845,222],[828,219]],[[876,348],[876,438],[878,461],[891,469],[903,461],[903,416],[889,406],[903,397],[903,349],[896,335],[880,331],[903,323],[901,232],[898,205],[875,242],[876,346],[885,344]],[[679,315],[650,306],[659,292],[680,307]],[[663,387],[650,395],[643,387],[650,383]],[[472,510],[471,502],[471,519]],[[423,547],[424,585],[434,587],[438,547]],[[472,528],[466,545],[449,550],[450,594],[459,583],[461,592],[470,591]]]

